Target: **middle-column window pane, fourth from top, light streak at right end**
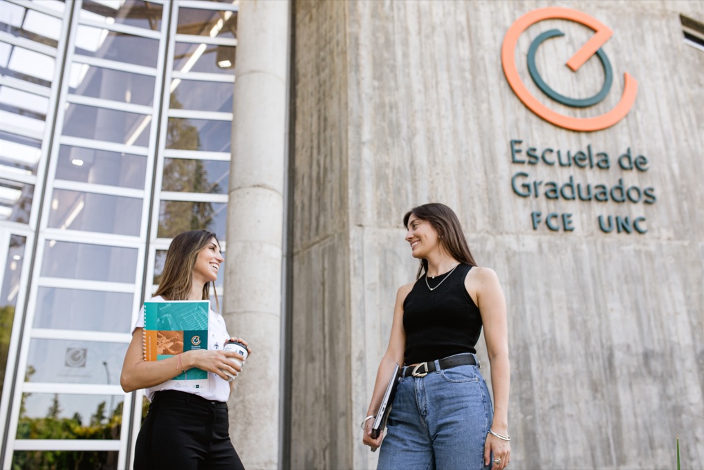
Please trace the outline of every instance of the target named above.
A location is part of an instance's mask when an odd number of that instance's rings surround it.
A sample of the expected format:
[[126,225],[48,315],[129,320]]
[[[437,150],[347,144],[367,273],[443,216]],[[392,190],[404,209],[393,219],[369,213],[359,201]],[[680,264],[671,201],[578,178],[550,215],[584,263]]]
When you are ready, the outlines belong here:
[[117,144],[146,147],[151,126],[149,116],[105,108],[70,104],[63,121],[63,134]]

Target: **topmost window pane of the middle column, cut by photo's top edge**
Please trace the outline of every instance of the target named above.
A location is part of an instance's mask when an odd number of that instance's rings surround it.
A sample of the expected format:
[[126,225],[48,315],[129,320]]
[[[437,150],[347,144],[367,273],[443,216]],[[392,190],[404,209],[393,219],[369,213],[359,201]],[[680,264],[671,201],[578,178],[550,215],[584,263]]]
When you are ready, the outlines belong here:
[[94,1],[83,0],[81,19],[100,21],[111,25],[130,25],[148,30],[161,29],[163,6],[153,1]]

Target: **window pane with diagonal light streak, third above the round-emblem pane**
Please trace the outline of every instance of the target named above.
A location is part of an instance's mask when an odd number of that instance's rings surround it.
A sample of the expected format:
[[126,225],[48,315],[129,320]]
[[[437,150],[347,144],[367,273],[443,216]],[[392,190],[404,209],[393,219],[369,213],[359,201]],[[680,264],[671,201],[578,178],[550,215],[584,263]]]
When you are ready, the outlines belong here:
[[55,189],[49,227],[139,235],[142,199]]

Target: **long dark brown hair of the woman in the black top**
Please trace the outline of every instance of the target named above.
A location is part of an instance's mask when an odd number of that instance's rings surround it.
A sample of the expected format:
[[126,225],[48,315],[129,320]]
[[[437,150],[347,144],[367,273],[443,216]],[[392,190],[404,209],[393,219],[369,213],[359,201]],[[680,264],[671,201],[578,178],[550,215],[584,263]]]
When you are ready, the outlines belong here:
[[[440,243],[450,253],[455,260],[463,265],[476,266],[467,239],[462,231],[462,224],[457,218],[455,211],[441,203],[429,203],[419,205],[406,212],[403,216],[403,227],[408,229],[408,219],[415,215],[420,220],[429,222],[440,236]],[[428,272],[428,260],[420,260],[420,266],[415,279],[420,279],[424,272]]]

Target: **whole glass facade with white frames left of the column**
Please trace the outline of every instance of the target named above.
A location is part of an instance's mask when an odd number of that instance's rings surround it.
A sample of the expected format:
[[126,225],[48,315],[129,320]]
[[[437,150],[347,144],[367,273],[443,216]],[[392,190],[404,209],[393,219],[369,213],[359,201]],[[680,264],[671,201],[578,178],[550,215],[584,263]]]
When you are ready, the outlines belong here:
[[175,234],[225,238],[237,8],[0,0],[2,468],[130,465],[139,306]]

